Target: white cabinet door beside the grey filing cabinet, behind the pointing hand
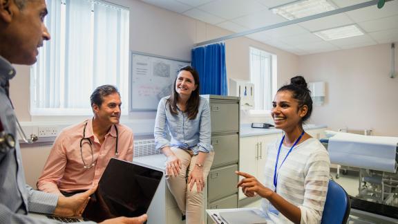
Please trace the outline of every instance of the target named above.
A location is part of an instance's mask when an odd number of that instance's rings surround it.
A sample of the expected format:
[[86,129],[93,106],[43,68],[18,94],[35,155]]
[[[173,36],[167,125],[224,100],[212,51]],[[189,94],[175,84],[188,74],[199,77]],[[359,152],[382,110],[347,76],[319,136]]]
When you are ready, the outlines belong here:
[[[257,137],[240,138],[239,145],[239,171],[256,175]],[[239,178],[239,180],[242,179],[243,178]],[[242,190],[239,189],[239,200],[243,198],[246,198],[246,196],[242,193]]]

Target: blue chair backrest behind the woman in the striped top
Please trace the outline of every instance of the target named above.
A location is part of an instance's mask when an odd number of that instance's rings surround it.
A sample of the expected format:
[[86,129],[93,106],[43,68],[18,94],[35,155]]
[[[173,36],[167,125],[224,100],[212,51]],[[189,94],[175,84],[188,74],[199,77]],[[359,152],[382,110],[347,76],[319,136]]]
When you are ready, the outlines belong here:
[[350,215],[350,197],[347,192],[334,180],[329,180],[321,224],[346,223]]

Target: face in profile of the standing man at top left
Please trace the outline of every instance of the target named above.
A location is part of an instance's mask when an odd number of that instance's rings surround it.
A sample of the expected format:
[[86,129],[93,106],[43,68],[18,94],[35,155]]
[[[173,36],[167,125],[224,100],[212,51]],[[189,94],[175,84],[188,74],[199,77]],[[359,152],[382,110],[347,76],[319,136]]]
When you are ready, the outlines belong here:
[[0,46],[1,55],[13,64],[34,64],[39,53],[37,48],[50,39],[44,25],[46,1],[26,1],[23,8],[18,8],[14,1],[3,0],[1,5],[1,22],[6,24],[1,30],[1,41],[6,43]]

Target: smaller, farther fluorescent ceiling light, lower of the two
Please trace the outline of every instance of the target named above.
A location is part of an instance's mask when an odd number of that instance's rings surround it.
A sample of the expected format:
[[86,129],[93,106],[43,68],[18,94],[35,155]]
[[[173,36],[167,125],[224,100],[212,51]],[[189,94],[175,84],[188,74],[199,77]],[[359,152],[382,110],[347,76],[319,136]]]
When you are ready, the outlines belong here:
[[321,30],[313,33],[325,41],[363,35],[363,32],[355,25],[341,26],[338,28]]

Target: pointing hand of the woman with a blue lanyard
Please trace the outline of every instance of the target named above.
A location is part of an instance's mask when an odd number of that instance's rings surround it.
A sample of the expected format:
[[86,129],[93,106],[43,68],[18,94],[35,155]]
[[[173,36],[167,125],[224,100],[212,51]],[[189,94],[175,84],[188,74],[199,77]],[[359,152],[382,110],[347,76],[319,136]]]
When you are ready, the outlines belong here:
[[238,176],[243,176],[236,187],[242,187],[242,192],[248,197],[254,197],[256,194],[262,198],[269,198],[272,195],[272,190],[264,187],[254,176],[240,171],[235,171]]

